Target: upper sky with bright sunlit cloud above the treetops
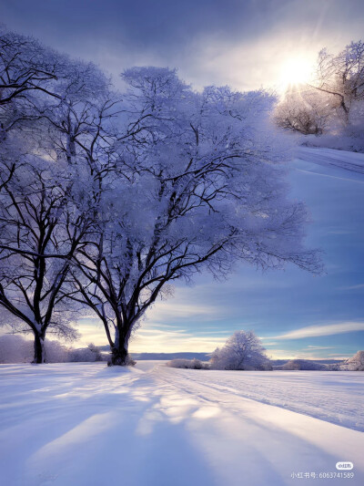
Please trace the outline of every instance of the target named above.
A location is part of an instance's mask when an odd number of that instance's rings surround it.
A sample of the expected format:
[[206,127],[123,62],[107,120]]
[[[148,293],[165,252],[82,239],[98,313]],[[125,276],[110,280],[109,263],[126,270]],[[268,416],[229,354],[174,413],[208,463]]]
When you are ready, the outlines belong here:
[[10,28],[115,75],[133,65],[176,66],[197,88],[259,88],[278,80],[285,57],[316,56],[321,47],[337,50],[359,38],[362,1],[351,0],[347,9],[341,3],[141,0],[126,8],[119,0],[3,0],[0,16]]

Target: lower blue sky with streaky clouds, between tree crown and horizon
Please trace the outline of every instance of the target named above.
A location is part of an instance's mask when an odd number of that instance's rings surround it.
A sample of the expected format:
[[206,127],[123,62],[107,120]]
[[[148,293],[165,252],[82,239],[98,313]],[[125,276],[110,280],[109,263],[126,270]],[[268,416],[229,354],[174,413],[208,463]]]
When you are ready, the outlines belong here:
[[[307,243],[322,250],[326,274],[240,265],[226,282],[199,275],[155,305],[131,351],[208,352],[238,329],[253,329],[276,358],[335,359],[364,348],[364,176],[295,160],[289,181],[291,197],[308,205]],[[84,339],[106,344],[101,327],[83,326]]]

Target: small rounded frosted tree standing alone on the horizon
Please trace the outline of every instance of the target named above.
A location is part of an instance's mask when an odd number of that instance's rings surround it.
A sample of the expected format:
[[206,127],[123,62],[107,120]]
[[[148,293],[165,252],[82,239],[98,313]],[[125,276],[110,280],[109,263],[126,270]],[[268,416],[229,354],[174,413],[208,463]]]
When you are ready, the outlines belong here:
[[253,331],[236,331],[213,352],[212,369],[271,369],[265,348]]

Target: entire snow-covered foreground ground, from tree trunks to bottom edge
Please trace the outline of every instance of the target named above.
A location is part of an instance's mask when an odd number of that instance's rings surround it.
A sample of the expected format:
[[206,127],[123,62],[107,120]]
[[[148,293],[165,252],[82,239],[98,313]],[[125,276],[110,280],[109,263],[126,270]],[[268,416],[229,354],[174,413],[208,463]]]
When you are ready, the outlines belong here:
[[[363,409],[363,381],[349,372],[180,370],[156,362],[1,365],[1,484],[359,486],[364,435],[348,427],[362,427],[354,415]],[[319,479],[339,472],[342,460],[354,463],[354,478]]]

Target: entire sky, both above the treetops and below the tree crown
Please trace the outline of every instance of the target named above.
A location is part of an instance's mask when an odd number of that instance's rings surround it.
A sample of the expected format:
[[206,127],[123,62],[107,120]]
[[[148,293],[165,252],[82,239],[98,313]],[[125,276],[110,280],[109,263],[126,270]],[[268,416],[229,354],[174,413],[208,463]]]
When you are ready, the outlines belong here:
[[[6,26],[95,61],[116,84],[126,67],[157,65],[177,67],[196,88],[278,88],[288,59],[313,61],[321,47],[358,40],[363,16],[361,0],[0,4]],[[211,351],[242,328],[255,330],[273,357],[346,357],[364,348],[364,178],[298,161],[289,178],[292,197],[308,204],[308,244],[324,251],[327,274],[241,266],[223,283],[200,275],[148,313],[132,351]],[[81,329],[83,342],[106,344],[93,321]]]

